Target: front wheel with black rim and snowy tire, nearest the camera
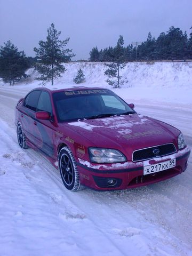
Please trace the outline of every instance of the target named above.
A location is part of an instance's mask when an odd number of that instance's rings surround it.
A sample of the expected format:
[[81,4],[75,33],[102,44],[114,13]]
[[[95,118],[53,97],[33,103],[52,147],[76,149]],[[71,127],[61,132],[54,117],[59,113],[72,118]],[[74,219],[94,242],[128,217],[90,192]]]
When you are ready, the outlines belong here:
[[71,191],[82,189],[75,158],[68,147],[59,152],[59,171],[64,186]]

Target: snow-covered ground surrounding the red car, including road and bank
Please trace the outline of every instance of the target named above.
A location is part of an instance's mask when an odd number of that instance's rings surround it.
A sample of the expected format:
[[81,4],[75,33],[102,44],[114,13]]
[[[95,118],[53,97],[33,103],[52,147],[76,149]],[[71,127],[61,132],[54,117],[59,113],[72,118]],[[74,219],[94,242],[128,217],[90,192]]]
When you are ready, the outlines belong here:
[[[54,87],[74,86],[79,67],[83,85],[109,88],[103,63],[69,63]],[[129,63],[124,76],[114,91],[192,147],[192,63]],[[43,156],[18,146],[14,107],[38,86],[32,78],[0,83],[0,255],[192,255],[192,157],[185,173],[154,185],[71,193]]]

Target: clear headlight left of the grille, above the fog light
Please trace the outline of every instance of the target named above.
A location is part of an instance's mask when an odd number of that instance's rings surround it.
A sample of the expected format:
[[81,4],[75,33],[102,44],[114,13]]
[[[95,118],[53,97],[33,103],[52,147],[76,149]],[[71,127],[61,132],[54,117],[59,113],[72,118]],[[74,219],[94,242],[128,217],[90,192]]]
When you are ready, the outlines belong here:
[[126,157],[116,149],[89,148],[91,162],[93,163],[121,163]]

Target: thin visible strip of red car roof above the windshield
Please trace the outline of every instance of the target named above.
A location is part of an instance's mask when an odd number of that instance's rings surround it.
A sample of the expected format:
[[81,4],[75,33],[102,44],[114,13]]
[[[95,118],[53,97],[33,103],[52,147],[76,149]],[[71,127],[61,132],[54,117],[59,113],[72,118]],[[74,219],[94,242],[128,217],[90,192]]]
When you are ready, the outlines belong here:
[[[74,86],[74,87],[69,87],[69,88],[62,88],[59,89],[57,87],[51,87],[51,88],[46,88],[46,87],[37,87],[34,90],[41,90],[41,91],[47,91],[50,93],[53,92],[65,92],[65,91],[79,91],[79,90],[109,90],[107,88],[102,88],[102,87],[85,87],[85,86]],[[110,90],[109,90],[110,91]]]

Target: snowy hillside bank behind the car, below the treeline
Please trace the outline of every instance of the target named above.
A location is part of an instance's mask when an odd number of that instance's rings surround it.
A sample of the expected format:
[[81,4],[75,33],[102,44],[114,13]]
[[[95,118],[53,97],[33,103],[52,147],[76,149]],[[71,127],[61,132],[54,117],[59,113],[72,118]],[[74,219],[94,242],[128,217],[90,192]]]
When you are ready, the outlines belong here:
[[[77,70],[81,68],[86,81],[81,86],[99,86],[111,89],[105,81],[105,63],[102,62],[71,62],[65,63],[67,71],[61,78],[55,80],[54,87],[78,86],[73,83]],[[121,70],[124,80],[123,94],[126,92],[130,100],[154,99],[159,101],[191,103],[192,95],[192,62],[128,62]],[[33,70],[27,71],[29,77],[18,85],[28,86],[29,89],[38,87],[34,81],[38,74]],[[0,83],[3,85],[3,82]],[[46,86],[50,86],[47,83]],[[51,86],[50,86],[51,87]],[[123,96],[122,90],[115,90]]]

